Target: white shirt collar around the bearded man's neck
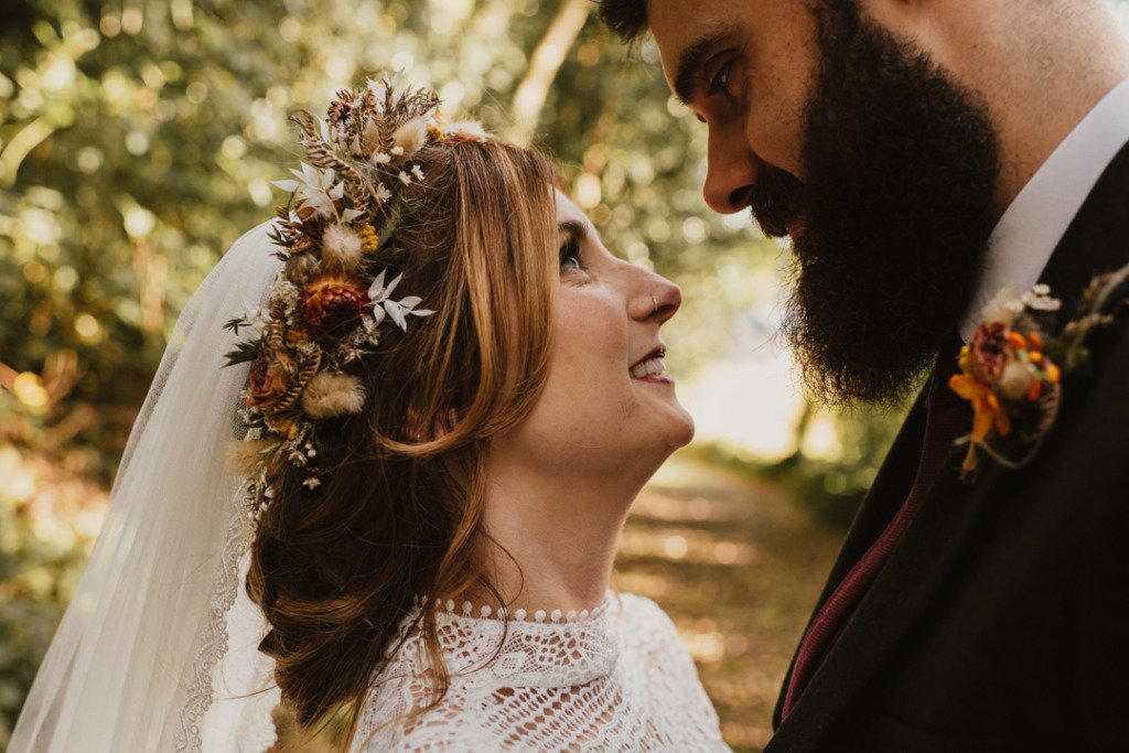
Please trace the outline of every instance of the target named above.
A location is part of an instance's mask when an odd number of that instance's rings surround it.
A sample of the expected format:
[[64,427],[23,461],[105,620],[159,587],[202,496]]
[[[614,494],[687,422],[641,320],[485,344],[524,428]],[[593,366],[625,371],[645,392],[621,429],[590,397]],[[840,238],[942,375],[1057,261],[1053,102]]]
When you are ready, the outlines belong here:
[[1129,79],[1113,88],[1051,152],[1000,217],[961,325],[968,342],[980,312],[1004,288],[1035,284],[1105,167],[1129,141]]

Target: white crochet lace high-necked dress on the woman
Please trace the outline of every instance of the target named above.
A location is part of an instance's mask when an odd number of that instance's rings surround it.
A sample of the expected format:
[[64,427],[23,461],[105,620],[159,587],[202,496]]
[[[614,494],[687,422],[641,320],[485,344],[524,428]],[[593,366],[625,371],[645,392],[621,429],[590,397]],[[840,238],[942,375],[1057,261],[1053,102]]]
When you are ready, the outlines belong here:
[[369,689],[352,753],[729,750],[690,654],[650,599],[609,592],[592,614],[517,612],[508,625],[453,607],[437,615],[446,698],[388,724],[422,697],[426,660],[410,636]]

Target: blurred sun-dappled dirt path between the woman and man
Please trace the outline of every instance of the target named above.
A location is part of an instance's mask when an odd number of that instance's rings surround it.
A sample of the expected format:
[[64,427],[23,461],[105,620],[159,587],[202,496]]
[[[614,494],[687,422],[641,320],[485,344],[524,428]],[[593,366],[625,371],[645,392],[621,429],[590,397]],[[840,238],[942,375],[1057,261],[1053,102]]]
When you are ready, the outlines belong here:
[[735,751],[771,736],[780,681],[839,541],[779,487],[680,456],[636,502],[613,585],[674,620]]

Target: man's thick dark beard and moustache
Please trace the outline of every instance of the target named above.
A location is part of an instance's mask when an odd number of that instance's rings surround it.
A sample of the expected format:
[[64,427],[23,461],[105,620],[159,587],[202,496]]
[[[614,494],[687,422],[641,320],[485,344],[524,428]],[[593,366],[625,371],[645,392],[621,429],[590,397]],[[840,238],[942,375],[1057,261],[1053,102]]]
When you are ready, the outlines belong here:
[[996,221],[997,138],[971,93],[852,0],[821,0],[816,17],[805,181],[769,168],[751,204],[767,234],[795,230],[785,334],[807,386],[887,402],[969,305]]

